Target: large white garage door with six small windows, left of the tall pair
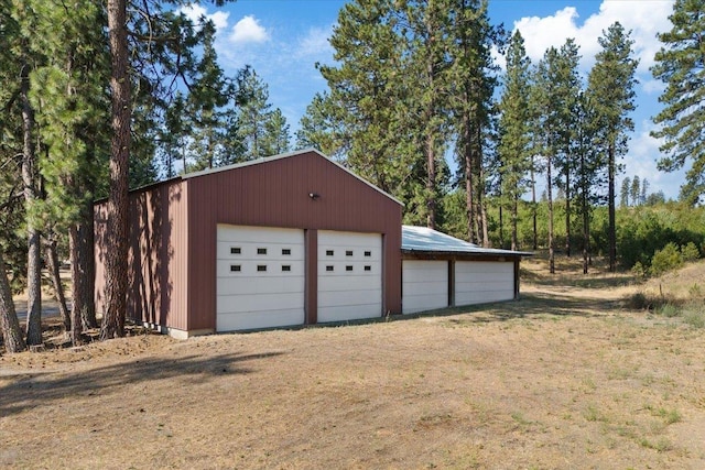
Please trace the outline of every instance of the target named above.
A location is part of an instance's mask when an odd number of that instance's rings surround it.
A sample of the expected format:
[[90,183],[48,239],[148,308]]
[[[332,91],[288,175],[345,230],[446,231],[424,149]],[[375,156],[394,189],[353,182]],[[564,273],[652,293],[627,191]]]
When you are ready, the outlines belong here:
[[304,232],[218,226],[217,330],[304,323]]

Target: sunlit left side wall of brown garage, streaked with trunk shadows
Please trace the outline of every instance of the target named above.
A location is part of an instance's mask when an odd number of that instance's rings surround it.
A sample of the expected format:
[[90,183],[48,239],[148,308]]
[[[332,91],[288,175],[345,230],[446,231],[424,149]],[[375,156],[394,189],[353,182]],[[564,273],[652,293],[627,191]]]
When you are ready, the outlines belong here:
[[[127,315],[187,329],[187,239],[185,190],[173,181],[130,194]],[[96,300],[102,311],[106,204],[96,206]]]

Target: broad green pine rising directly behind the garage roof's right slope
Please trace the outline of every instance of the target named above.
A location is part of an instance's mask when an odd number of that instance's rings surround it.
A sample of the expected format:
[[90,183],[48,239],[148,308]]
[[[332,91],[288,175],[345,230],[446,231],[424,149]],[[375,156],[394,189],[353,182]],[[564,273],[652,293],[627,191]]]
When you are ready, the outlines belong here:
[[319,100],[321,116],[313,118],[324,123],[318,142],[329,142],[350,170],[409,201],[405,217],[423,217],[423,207],[411,203],[425,199],[417,183],[425,173],[415,132],[417,103],[410,106],[419,87],[402,63],[395,30],[401,19],[392,3],[358,0],[343,7],[330,37],[336,65],[318,67],[329,91]]

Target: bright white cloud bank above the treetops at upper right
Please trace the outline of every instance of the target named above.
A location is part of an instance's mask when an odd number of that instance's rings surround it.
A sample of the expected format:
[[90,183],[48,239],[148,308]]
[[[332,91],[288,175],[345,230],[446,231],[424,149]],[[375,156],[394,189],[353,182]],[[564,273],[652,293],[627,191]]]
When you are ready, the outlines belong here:
[[632,47],[640,61],[638,73],[647,74],[660,47],[657,33],[671,28],[668,17],[672,12],[672,4],[673,0],[605,0],[599,11],[587,18],[583,24],[578,24],[577,9],[565,7],[553,15],[522,18],[514,22],[514,29],[521,31],[527,54],[533,62],[540,61],[550,46],[558,48],[566,39],[575,39],[581,47],[581,65],[585,72],[595,62],[595,54],[600,51],[598,37],[612,23],[619,21],[625,30],[631,30],[630,37],[634,41]]

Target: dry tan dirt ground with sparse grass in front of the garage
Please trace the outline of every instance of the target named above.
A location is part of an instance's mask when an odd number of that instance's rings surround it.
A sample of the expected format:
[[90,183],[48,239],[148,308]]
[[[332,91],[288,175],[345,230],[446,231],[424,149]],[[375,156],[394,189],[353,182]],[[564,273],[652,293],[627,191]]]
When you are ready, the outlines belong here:
[[705,468],[705,329],[558,269],[491,306],[1,356],[0,468]]

